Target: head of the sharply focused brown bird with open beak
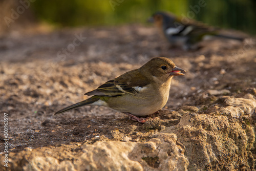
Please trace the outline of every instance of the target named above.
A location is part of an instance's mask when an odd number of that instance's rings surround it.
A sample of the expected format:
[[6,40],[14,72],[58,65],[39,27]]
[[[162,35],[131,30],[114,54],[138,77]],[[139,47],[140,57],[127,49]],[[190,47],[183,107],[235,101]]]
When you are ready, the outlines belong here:
[[158,79],[165,82],[173,76],[185,75],[185,70],[175,66],[175,63],[165,57],[155,57],[141,67],[141,72],[151,79]]

